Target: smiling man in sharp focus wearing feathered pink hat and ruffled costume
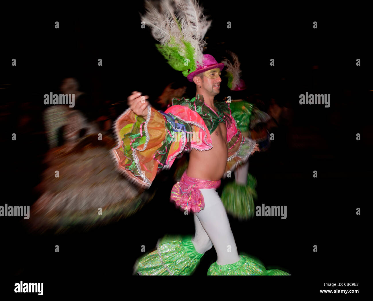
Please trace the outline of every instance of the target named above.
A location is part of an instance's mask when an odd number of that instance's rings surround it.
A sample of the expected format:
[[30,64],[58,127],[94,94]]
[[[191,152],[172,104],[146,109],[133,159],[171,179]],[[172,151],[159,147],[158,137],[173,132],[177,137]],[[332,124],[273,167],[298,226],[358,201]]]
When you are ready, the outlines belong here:
[[[209,54],[198,53],[201,49],[198,43],[204,33],[186,34],[193,22],[198,26],[191,28],[207,31],[207,21],[200,7],[195,1],[171,3],[164,0],[160,13],[151,3],[147,5],[148,15],[143,20],[156,28],[156,32],[157,28],[165,28],[164,20],[173,20],[166,26],[171,29],[170,33],[162,30],[162,34],[158,31],[158,35],[154,32],[153,35],[161,41],[157,47],[169,64],[195,83],[196,96],[175,98],[172,106],[163,112],[150,106],[146,100],[148,96],[132,92],[128,97],[128,110],[115,123],[118,146],[113,149],[113,155],[123,174],[134,183],[150,187],[158,171],[170,168],[176,158],[185,151],[190,152],[188,169],[173,186],[171,200],[181,209],[194,213],[195,235],[163,237],[157,250],[138,260],[135,272],[139,275],[191,275],[203,254],[214,246],[217,261],[211,264],[207,275],[289,275],[281,270],[266,270],[259,260],[238,254],[228,216],[216,192],[220,179],[245,162],[258,147],[253,140],[242,136],[229,104],[214,102],[220,92],[220,72],[224,64],[217,63]],[[178,16],[178,21],[162,14]],[[193,39],[198,43],[193,44]],[[178,43],[186,48],[177,47]],[[190,49],[195,52],[188,56]],[[186,57],[187,66],[177,61],[180,57],[181,62]],[[181,139],[175,139],[175,134]],[[187,139],[187,135],[192,135],[193,139]]]

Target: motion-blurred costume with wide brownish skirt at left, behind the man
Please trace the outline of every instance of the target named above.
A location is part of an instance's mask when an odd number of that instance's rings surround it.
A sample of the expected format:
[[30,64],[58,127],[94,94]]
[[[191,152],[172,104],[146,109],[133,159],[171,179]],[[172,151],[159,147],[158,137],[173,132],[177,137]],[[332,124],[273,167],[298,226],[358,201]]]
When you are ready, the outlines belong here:
[[37,186],[41,196],[28,221],[31,231],[88,230],[130,216],[152,199],[154,193],[139,189],[117,172],[110,155],[115,140],[99,139],[98,130],[81,112],[54,106],[44,112],[44,120],[50,145],[57,144],[58,132],[64,144],[46,154],[47,168]]

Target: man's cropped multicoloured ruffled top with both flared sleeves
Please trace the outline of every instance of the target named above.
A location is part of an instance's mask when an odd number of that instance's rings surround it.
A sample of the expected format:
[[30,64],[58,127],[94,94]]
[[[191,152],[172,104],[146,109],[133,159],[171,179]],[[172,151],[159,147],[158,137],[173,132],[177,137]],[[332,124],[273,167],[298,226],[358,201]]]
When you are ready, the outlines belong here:
[[[117,119],[118,146],[113,149],[113,155],[119,170],[132,182],[150,187],[157,172],[170,168],[185,151],[211,149],[210,134],[221,122],[226,124],[228,142],[224,177],[248,159],[255,142],[243,137],[237,129],[228,103],[215,102],[218,112],[204,103],[202,95],[190,100],[174,98],[172,104],[165,112],[148,107],[146,120],[130,109]],[[192,133],[202,140],[187,141],[186,134]],[[175,134],[181,139],[175,139]]]

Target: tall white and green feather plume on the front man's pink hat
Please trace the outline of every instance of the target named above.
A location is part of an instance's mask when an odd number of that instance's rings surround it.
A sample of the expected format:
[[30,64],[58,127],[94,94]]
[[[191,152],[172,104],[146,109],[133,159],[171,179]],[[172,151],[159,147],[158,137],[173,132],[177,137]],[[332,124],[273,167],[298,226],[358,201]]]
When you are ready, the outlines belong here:
[[197,69],[203,61],[203,40],[211,21],[195,0],[161,0],[159,5],[145,2],[146,14],[141,20],[151,28],[159,41],[156,45],[170,66],[184,76]]

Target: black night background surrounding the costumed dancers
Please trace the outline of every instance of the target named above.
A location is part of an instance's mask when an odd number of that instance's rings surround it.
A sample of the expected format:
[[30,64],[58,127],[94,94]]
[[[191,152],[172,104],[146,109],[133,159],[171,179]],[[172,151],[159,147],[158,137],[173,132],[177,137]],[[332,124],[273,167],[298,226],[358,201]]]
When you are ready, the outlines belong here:
[[[275,134],[279,138],[271,149],[250,159],[250,172],[258,181],[256,205],[287,206],[287,219],[255,217],[239,222],[229,216],[239,251],[292,276],[206,278],[216,261],[213,248],[191,278],[132,276],[141,245],[151,250],[166,233],[194,234],[192,216],[169,202],[173,180],[171,171],[165,171],[153,183],[158,188],[156,197],[140,212],[89,232],[32,235],[21,219],[1,217],[1,294],[15,296],[14,283],[21,280],[43,282],[48,298],[72,292],[174,298],[167,294],[197,296],[196,289],[214,297],[220,292],[243,298],[287,297],[320,294],[320,289],[328,289],[324,282],[358,282],[360,293],[367,289],[363,274],[370,267],[364,255],[369,232],[363,216],[368,212],[372,179],[372,20],[361,10],[325,12],[323,7],[313,7],[311,11],[307,5],[258,7],[240,1],[202,4],[213,20],[204,53],[220,61],[225,50],[235,52],[248,95],[289,102],[294,110],[292,128]],[[149,29],[141,29],[142,1],[124,5],[3,20],[0,84],[10,86],[0,89],[0,97],[1,105],[13,104],[13,111],[1,124],[0,205],[35,202],[38,196],[32,188],[40,181],[41,159],[47,150],[46,138],[40,135],[10,139],[19,117],[18,104],[31,102],[35,123],[40,125],[45,91],[58,90],[68,76],[77,77],[82,89],[95,95],[95,103],[123,101],[122,111],[132,91],[141,91],[151,100],[170,82],[185,84],[184,77],[157,52]],[[54,28],[55,21],[60,29]],[[16,67],[11,66],[12,58],[17,59]],[[102,67],[97,66],[98,58],[103,59]],[[275,66],[269,66],[270,58]],[[361,66],[356,66],[357,58]],[[193,86],[188,89],[193,93]],[[330,108],[299,105],[299,95],[306,91],[330,94]],[[332,118],[335,114],[337,121]],[[361,141],[356,140],[357,133]],[[361,215],[356,215],[358,207]],[[56,244],[59,253],[54,252]]]

